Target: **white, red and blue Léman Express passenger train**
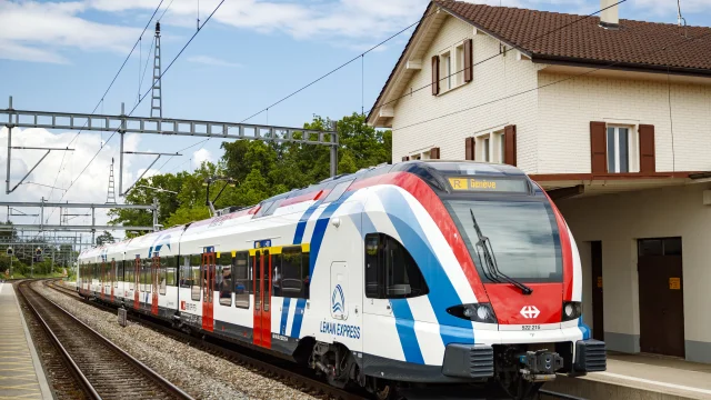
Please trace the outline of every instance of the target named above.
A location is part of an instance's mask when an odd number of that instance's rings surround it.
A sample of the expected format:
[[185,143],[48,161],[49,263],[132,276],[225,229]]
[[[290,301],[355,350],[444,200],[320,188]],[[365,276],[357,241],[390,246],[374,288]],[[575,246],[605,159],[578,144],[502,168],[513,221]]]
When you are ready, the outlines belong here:
[[515,167],[405,161],[81,252],[81,296],[379,399],[605,370],[572,233]]

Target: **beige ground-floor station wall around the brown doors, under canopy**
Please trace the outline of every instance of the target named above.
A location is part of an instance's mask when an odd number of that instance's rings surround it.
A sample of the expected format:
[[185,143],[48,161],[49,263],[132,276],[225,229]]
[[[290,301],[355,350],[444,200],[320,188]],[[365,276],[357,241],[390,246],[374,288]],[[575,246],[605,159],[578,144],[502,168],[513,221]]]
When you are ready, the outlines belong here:
[[[583,288],[591,288],[589,241],[602,241],[605,342],[611,350],[639,351],[637,240],[681,237],[687,359],[711,363],[711,183],[561,200],[583,259]],[[588,267],[585,267],[588,266]],[[583,310],[591,310],[590,290]],[[592,324],[592,316],[584,317]],[[663,327],[660,327],[663,329]]]

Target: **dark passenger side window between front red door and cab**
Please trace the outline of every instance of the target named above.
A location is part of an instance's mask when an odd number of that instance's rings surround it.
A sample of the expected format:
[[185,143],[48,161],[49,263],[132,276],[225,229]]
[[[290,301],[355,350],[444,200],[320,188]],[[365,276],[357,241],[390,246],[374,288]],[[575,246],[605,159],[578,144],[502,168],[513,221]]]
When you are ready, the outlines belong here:
[[[272,261],[273,264],[273,261]],[[284,298],[309,298],[309,253],[301,247],[289,247],[282,250],[280,270],[272,271],[272,282],[279,288],[273,296]],[[272,266],[273,269],[273,266]],[[277,282],[277,279],[279,281]]]

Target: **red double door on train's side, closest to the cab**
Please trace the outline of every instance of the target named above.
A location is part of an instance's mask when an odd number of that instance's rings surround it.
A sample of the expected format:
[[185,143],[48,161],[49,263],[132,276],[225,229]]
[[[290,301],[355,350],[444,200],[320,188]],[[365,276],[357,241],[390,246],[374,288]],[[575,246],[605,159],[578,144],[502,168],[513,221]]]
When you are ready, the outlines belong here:
[[253,343],[271,349],[271,257],[269,250],[257,249],[252,257],[254,287]]

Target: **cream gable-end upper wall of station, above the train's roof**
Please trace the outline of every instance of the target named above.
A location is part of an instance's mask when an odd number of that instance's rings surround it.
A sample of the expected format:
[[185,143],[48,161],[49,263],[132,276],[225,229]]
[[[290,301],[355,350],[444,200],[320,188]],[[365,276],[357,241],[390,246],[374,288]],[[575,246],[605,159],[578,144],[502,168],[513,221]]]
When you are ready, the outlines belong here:
[[[449,17],[422,58],[422,69],[413,74],[407,91],[409,88],[415,90],[431,83],[433,56],[470,38],[473,39],[475,66],[472,82],[449,92],[442,89],[437,97],[432,96],[431,89],[427,87],[394,104],[393,162],[399,162],[403,156],[433,147],[440,148],[441,159],[463,160],[465,138],[485,130],[515,124],[518,166],[527,172],[535,172],[539,159],[535,153],[535,91],[504,101],[494,100],[535,88],[537,71],[541,66],[529,60],[517,60],[515,51],[508,51],[505,57],[500,56],[481,62],[500,52],[500,42],[485,34],[474,34],[472,26]],[[481,63],[477,66],[478,62]],[[441,81],[440,86],[444,88],[445,82]],[[491,103],[485,104],[487,102]],[[420,123],[430,119],[432,120],[429,122]]]

